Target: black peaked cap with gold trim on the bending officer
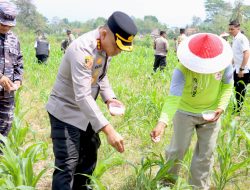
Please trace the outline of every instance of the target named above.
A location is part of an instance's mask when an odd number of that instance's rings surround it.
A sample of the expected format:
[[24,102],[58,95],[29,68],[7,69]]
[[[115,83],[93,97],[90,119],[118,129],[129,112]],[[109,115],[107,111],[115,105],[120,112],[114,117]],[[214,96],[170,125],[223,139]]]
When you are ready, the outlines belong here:
[[124,51],[132,51],[137,33],[134,21],[125,13],[116,11],[108,19],[108,27],[115,35],[117,46]]

